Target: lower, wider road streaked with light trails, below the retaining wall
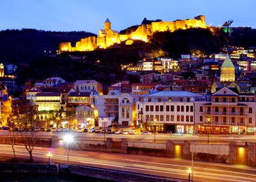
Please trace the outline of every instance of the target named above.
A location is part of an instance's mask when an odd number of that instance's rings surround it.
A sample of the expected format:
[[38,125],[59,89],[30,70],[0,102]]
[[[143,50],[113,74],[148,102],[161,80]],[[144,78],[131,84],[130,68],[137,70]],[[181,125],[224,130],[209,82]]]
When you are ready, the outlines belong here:
[[[12,157],[10,145],[0,144],[0,155]],[[29,155],[24,146],[15,146],[18,157],[28,159]],[[33,156],[36,160],[48,161],[46,156],[50,151],[52,162],[67,162],[67,151],[63,148],[35,147]],[[142,155],[126,155],[120,153],[104,153],[93,151],[69,151],[69,162],[85,166],[95,166],[141,174],[161,175],[187,179],[187,169],[191,161],[183,159],[169,159],[166,157],[149,157]],[[256,168],[242,165],[219,164],[213,162],[194,161],[193,179],[195,181],[255,181]]]

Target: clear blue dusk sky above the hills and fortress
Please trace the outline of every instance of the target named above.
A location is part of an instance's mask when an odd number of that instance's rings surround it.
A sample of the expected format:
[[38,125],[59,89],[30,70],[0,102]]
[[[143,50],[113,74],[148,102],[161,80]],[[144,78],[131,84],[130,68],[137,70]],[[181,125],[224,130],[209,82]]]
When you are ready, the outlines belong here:
[[[110,2],[110,3],[108,3]],[[256,0],[8,0],[0,1],[0,30],[41,29],[98,33],[108,17],[112,29],[138,25],[142,19],[193,18],[206,16],[206,24],[256,27]]]

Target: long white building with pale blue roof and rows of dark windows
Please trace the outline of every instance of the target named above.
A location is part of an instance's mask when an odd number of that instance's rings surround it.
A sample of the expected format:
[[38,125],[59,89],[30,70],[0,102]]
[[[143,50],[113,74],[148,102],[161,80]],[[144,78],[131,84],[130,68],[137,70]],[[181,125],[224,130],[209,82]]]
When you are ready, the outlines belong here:
[[161,91],[139,96],[137,121],[141,129],[159,133],[189,133],[194,130],[194,101],[204,96],[186,91]]

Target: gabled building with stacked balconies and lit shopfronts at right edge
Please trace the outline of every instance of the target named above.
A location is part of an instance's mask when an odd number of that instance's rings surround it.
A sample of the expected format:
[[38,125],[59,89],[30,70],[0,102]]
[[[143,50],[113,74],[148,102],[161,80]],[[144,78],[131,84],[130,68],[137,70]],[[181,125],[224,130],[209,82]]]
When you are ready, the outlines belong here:
[[195,101],[195,133],[255,135],[255,98],[223,87],[210,101]]

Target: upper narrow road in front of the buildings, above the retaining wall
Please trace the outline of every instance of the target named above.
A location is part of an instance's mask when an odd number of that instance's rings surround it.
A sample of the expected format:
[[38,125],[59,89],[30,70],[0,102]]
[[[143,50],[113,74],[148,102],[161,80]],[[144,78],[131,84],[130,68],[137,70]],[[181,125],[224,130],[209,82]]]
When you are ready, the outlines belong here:
[[[73,132],[76,138],[91,138],[91,139],[104,139],[103,133],[78,133]],[[65,135],[65,132],[38,132],[37,136],[41,137],[51,137],[52,135]],[[0,130],[0,135],[2,136],[10,136],[8,131]],[[20,135],[20,132],[17,132],[17,135]],[[111,138],[130,138],[136,140],[152,140],[154,135],[114,135],[114,134],[105,134],[106,137]],[[208,140],[208,135],[169,135],[169,134],[162,134],[157,133],[155,135],[156,140]],[[235,141],[235,142],[256,142],[255,135],[209,135],[210,141]]]

